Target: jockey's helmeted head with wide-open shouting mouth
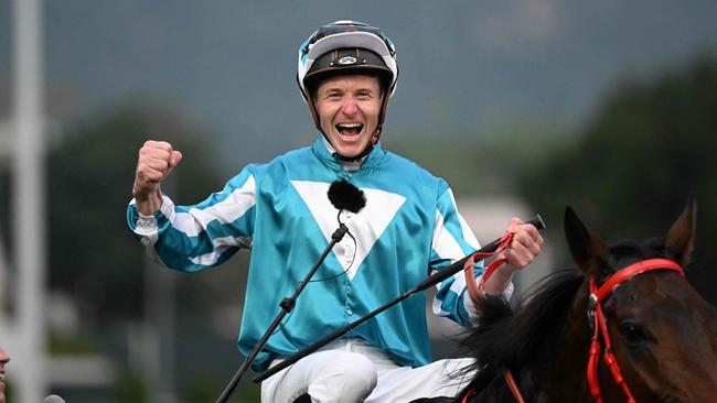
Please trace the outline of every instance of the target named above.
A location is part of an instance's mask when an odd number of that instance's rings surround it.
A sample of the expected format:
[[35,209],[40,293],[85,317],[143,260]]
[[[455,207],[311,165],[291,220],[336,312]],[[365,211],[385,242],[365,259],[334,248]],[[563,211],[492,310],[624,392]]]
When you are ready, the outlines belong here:
[[[299,50],[301,94],[317,128],[345,160],[366,155],[378,141],[397,79],[393,43],[361,22],[321,26]],[[325,98],[329,89],[332,98]]]

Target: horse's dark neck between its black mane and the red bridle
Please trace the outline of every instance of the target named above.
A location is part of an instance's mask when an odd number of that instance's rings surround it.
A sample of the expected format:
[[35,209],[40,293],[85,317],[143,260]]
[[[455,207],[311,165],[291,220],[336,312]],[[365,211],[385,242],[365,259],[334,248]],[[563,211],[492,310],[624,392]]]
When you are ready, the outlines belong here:
[[538,402],[592,402],[586,368],[591,334],[587,319],[588,288],[584,283],[572,302],[565,329],[550,362],[537,374]]

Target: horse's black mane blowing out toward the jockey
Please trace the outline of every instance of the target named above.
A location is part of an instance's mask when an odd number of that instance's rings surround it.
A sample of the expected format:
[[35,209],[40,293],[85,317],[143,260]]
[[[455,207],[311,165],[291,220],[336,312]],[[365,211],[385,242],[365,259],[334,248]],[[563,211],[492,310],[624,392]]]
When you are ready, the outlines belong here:
[[558,339],[582,281],[584,275],[576,270],[550,274],[518,302],[515,313],[504,301],[480,302],[480,325],[462,340],[461,351],[477,359],[467,371],[478,370],[467,390],[481,391],[510,369],[521,379],[524,393],[532,394],[532,370],[550,362],[556,348],[553,340]]

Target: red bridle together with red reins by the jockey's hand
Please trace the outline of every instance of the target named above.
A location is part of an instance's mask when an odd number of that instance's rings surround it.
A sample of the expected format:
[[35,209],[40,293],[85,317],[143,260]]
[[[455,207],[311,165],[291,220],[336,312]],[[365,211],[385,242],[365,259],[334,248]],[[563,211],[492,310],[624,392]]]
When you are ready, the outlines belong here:
[[[505,239],[502,239],[503,242],[501,242],[502,248],[499,248],[496,252],[505,249],[505,247],[512,241],[512,235],[506,235],[506,237],[504,238]],[[484,259],[486,257],[477,254],[474,258]],[[467,262],[465,264],[465,281],[469,290],[472,288],[473,291],[478,291],[480,290],[480,286],[477,284],[475,277],[469,274],[469,272],[472,273],[472,270],[469,270],[472,269],[472,261],[473,260],[470,259],[469,262]],[[505,260],[501,261],[501,259],[494,261],[489,266],[489,270],[486,270],[485,273],[483,273],[482,283],[484,283],[485,280],[488,280],[488,276],[490,276],[493,273],[493,271],[504,262]],[[670,259],[646,259],[619,270],[599,287],[597,285],[597,281],[595,276],[590,277],[590,296],[588,298],[588,320],[590,323],[590,327],[593,333],[592,333],[592,341],[590,344],[590,352],[588,358],[587,377],[588,377],[588,385],[590,386],[590,394],[592,395],[592,399],[596,401],[596,403],[602,403],[602,394],[600,392],[600,384],[598,381],[598,364],[600,362],[599,357],[601,350],[600,335],[602,335],[602,340],[604,342],[604,349],[602,350],[603,351],[602,359],[607,364],[608,369],[610,370],[610,373],[612,374],[612,379],[620,388],[622,388],[622,391],[627,397],[627,402],[635,403],[635,400],[632,396],[632,393],[630,392],[630,388],[628,386],[624,378],[622,377],[622,373],[620,371],[620,366],[618,364],[618,361],[612,351],[612,341],[610,339],[610,334],[608,333],[608,325],[604,319],[604,314],[602,313],[602,302],[608,296],[610,296],[610,294],[620,284],[625,282],[627,280],[630,280],[638,274],[642,274],[655,270],[671,270],[682,275],[685,275],[685,272],[682,269],[682,266]],[[507,369],[504,370],[503,377],[505,378],[505,383],[507,384],[511,393],[515,397],[515,401],[518,403],[523,403],[524,397],[515,380],[513,379],[513,374],[511,373],[511,371]],[[468,402],[469,397],[471,397],[475,393],[477,393],[475,390],[470,390],[468,394],[463,396],[461,402]]]

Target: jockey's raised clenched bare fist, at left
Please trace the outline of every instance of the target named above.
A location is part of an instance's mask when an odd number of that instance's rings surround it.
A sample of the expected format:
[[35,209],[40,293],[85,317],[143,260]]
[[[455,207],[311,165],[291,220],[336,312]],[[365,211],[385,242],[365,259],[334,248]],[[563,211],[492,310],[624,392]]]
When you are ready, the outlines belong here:
[[180,161],[182,153],[165,141],[149,140],[139,149],[132,196],[140,214],[152,215],[159,210],[162,205],[160,184]]

